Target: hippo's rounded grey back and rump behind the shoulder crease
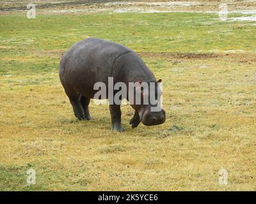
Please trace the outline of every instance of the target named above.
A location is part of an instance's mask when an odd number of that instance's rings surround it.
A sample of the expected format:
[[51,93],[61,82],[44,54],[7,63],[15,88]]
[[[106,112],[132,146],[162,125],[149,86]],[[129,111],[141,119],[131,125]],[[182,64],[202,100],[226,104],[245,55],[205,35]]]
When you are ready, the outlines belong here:
[[[112,77],[115,60],[128,52],[133,51],[111,41],[97,38],[79,41],[61,58],[60,76],[77,92],[83,94],[84,87],[93,90],[96,82],[108,85],[108,77]],[[89,93],[85,91],[84,94]]]

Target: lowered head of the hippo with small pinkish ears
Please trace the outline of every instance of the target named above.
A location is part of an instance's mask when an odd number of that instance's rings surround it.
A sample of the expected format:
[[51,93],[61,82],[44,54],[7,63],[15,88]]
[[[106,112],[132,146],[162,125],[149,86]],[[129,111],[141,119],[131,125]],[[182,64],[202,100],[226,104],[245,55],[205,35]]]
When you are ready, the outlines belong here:
[[[165,122],[165,112],[161,105],[161,79],[157,82],[136,82],[134,104],[141,122],[146,126],[156,126]],[[139,99],[138,99],[139,98]],[[137,100],[138,99],[138,100]]]

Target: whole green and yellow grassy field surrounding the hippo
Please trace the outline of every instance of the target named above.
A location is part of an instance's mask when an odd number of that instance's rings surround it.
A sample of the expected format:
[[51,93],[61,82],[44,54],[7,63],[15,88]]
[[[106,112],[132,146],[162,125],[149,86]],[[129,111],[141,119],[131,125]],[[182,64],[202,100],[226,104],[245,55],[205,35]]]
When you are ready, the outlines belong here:
[[[237,15],[236,15],[237,16]],[[232,17],[232,16],[231,16]],[[255,22],[205,13],[0,16],[0,190],[256,190]],[[79,121],[58,78],[88,36],[138,52],[163,79],[166,122]],[[36,185],[26,185],[26,171]],[[220,185],[218,171],[228,171]]]

